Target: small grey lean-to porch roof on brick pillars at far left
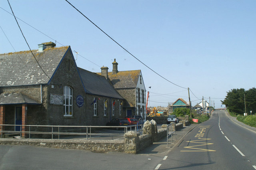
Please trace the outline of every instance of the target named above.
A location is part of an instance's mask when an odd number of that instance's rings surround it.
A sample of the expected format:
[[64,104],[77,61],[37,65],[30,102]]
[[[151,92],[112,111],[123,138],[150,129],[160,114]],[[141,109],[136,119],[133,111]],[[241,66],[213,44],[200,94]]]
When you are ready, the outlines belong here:
[[2,93],[0,95],[0,105],[10,104],[40,105],[40,103],[27,97],[26,95],[23,95],[22,93]]

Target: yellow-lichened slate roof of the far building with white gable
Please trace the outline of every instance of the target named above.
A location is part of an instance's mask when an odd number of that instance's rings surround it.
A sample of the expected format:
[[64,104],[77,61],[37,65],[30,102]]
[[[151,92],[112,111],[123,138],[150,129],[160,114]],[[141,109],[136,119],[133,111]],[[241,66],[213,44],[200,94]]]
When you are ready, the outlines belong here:
[[108,72],[108,77],[115,89],[134,88],[137,87],[140,70],[118,71],[117,74]]

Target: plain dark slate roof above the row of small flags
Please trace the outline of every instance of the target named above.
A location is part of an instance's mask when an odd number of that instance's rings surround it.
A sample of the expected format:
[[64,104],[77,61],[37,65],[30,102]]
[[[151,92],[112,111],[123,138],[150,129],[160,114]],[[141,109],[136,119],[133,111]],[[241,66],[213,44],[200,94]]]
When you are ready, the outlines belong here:
[[116,99],[124,99],[104,76],[98,75],[97,73],[92,73],[79,67],[78,71],[84,83],[86,93],[104,97],[113,97]]

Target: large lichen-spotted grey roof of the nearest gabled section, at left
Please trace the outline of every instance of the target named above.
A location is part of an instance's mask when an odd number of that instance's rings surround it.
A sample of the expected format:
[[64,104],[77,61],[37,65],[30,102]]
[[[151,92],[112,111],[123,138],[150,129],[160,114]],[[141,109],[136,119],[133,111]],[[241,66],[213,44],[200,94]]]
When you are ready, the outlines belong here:
[[[69,46],[32,50],[38,63],[52,77]],[[49,78],[42,71],[30,51],[0,54],[0,87],[47,84]]]

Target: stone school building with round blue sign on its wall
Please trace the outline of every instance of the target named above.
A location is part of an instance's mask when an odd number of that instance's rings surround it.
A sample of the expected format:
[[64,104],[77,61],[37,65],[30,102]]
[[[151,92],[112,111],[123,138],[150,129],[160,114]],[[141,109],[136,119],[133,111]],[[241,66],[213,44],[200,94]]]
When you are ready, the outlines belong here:
[[[145,113],[141,71],[133,76],[127,101],[106,75],[78,68],[70,46],[55,46],[41,43],[32,52],[0,54],[0,125],[106,125],[126,117],[127,110]],[[20,131],[19,126],[0,128]]]

